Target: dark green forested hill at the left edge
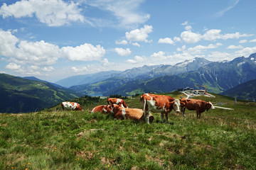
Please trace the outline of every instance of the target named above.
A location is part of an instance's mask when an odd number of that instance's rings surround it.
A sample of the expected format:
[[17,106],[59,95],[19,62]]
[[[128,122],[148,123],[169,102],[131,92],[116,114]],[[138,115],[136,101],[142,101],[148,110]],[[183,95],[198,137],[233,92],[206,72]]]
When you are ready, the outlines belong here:
[[78,92],[53,86],[46,81],[0,74],[0,113],[28,113],[80,97]]

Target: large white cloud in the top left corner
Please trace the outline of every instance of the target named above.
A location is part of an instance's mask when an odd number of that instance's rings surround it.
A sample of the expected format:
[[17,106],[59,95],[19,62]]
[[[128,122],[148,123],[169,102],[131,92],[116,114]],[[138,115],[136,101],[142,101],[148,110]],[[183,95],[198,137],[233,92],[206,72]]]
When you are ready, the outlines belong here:
[[78,8],[78,5],[73,1],[65,3],[62,0],[23,0],[9,6],[4,3],[0,8],[0,15],[3,18],[36,16],[41,23],[48,26],[63,26],[73,21],[86,21],[80,14],[82,9]]

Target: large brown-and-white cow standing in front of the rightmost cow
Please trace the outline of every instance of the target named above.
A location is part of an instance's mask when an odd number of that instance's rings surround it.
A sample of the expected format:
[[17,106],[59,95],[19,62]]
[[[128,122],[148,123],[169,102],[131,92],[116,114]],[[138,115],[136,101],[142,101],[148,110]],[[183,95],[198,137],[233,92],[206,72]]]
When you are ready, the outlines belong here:
[[164,123],[164,114],[166,118],[166,123],[168,123],[168,113],[172,109],[177,113],[180,113],[180,103],[178,99],[174,99],[170,96],[155,95],[155,94],[143,94],[140,97],[140,102],[142,104],[142,109],[144,113],[144,118],[146,123],[149,124],[149,113],[150,112],[160,112],[161,122]]

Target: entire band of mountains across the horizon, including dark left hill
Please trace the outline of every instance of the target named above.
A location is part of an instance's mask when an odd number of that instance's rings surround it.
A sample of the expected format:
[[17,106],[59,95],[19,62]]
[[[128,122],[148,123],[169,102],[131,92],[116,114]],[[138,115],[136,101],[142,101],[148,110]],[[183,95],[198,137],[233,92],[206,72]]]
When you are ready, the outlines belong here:
[[[27,113],[70,101],[83,95],[132,96],[148,92],[165,93],[186,86],[216,94],[255,100],[256,53],[230,62],[203,58],[175,65],[156,65],[68,77],[53,84],[36,77],[0,74],[0,113]],[[60,86],[58,82],[62,82]],[[78,84],[73,86],[73,84]]]

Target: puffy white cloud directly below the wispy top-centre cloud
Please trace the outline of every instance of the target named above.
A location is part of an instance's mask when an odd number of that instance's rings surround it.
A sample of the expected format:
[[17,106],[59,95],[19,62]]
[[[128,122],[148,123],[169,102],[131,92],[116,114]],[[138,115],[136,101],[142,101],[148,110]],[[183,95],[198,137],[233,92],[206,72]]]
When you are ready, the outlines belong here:
[[152,32],[153,27],[145,25],[143,28],[131,30],[125,33],[125,37],[130,41],[144,41],[148,42],[146,38],[149,37],[149,33]]

